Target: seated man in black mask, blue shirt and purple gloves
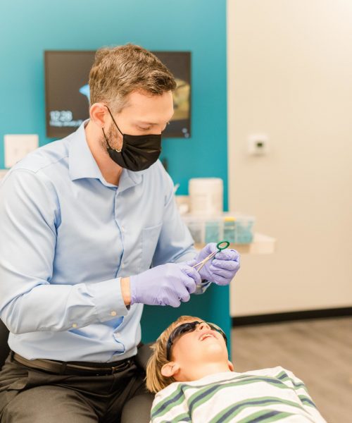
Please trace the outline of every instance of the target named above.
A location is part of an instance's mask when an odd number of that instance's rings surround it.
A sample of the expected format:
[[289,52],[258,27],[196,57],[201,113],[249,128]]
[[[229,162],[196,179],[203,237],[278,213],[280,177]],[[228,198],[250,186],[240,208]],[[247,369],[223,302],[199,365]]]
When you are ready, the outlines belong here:
[[141,47],[101,49],[89,88],[89,121],[1,184],[0,317],[12,350],[1,422],[118,422],[144,392],[134,360],[143,305],[178,307],[239,269],[234,250],[200,272],[190,265],[193,242],[158,161],[173,113],[168,69]]

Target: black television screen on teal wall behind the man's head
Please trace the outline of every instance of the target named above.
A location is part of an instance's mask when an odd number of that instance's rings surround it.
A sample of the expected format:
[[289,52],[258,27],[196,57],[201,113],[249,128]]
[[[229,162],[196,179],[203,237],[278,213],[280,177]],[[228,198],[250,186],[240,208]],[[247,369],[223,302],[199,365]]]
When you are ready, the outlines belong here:
[[[95,51],[45,51],[46,136],[65,137],[89,118],[89,71]],[[191,53],[153,51],[175,76],[175,114],[163,137],[191,135]]]

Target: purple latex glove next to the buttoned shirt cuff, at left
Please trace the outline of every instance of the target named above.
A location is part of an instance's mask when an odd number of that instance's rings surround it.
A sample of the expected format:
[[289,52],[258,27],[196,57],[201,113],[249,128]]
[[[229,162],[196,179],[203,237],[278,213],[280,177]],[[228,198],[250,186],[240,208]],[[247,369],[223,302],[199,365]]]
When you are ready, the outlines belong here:
[[131,305],[171,305],[179,307],[201,283],[201,276],[186,263],[168,263],[130,276]]

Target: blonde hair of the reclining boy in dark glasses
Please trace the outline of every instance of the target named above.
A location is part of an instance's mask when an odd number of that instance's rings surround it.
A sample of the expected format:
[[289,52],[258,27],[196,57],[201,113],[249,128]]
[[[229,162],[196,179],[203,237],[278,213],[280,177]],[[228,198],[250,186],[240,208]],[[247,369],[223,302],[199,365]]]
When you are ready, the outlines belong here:
[[146,364],[146,388],[153,392],[157,393],[161,391],[166,386],[175,382],[175,379],[170,376],[166,377],[161,374],[161,368],[164,364],[167,364],[169,360],[166,358],[166,344],[168,343],[168,338],[171,332],[180,324],[184,323],[185,321],[203,321],[203,319],[199,319],[199,317],[192,317],[192,316],[181,316],[176,321],[172,322],[170,326],[168,326],[161,336],[158,337],[155,343],[151,345],[151,349],[153,350],[153,355],[148,360]]

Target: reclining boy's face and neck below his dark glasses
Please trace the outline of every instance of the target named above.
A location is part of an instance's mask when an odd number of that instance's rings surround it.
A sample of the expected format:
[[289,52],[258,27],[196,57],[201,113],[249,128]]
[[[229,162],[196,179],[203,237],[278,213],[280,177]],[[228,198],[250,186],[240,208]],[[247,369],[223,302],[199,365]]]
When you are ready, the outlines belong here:
[[[194,331],[175,338],[172,343],[170,360],[172,369],[177,370],[177,375],[172,372],[171,376],[180,381],[192,380],[189,379],[189,375],[193,374],[194,370],[205,369],[209,366],[218,366],[219,369],[227,367],[233,370],[232,363],[228,361],[225,339],[221,333],[210,329],[205,321],[201,321]],[[165,376],[170,375],[165,374]]]

